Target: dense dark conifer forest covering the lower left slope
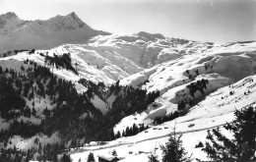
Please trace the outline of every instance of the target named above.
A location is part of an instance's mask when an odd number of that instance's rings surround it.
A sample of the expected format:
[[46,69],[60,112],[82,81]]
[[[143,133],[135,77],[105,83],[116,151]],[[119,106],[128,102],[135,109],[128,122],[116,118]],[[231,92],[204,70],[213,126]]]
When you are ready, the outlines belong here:
[[[83,137],[85,142],[106,141],[119,137],[119,134],[114,135],[113,127],[122,118],[147,109],[160,95],[159,92],[147,93],[146,90],[121,86],[119,81],[105,86],[102,82],[94,83],[85,79],[79,82],[88,90],[78,93],[73,82],[57,78],[49,68],[30,60],[25,61],[24,65],[26,66],[22,66],[19,72],[0,67],[0,115],[11,123],[7,131],[2,130],[0,133],[0,141],[3,143],[1,157],[7,161],[32,159],[35,152],[38,153],[37,160],[54,161],[56,154],[60,153],[58,151],[63,150],[70,140],[70,147],[76,147],[83,144],[80,142]],[[104,99],[111,94],[115,95],[116,99],[111,109],[103,116],[91,99],[94,95]],[[36,111],[35,98],[49,99],[53,109],[45,107],[42,114],[39,114]],[[81,118],[83,114],[86,116]],[[41,123],[35,125],[32,122],[19,121],[19,117],[39,118]],[[136,129],[129,135],[138,134],[143,130],[145,129]],[[61,143],[42,145],[34,142],[34,147],[28,152],[21,152],[16,148],[5,150],[9,138],[13,135],[26,138],[38,134],[50,136],[54,133],[61,137]]]

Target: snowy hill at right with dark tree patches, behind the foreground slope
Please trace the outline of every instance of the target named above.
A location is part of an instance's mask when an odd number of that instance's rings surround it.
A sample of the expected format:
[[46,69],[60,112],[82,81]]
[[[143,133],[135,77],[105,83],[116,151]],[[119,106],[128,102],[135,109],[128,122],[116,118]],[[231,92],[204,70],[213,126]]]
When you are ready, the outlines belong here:
[[[175,111],[181,99],[198,102],[220,87],[256,74],[256,42],[223,44],[213,49],[182,56],[120,81],[148,91],[160,90],[160,97],[149,106],[144,121]],[[192,97],[188,85],[202,80],[209,81],[205,94],[197,90]]]

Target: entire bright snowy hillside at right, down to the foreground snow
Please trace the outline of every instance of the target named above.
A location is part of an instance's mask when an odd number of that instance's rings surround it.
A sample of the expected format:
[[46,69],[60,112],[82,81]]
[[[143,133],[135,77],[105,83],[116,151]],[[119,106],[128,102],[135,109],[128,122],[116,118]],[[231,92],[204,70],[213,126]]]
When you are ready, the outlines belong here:
[[[116,150],[123,162],[147,162],[148,155],[155,147],[161,156],[160,144],[176,128],[183,134],[182,140],[192,157],[207,160],[201,148],[195,148],[199,141],[205,141],[207,130],[222,127],[231,122],[233,112],[256,104],[256,43],[236,42],[215,44],[203,53],[183,55],[151,69],[132,75],[122,81],[123,85],[160,90],[160,97],[142,113],[125,117],[114,128],[115,133],[124,131],[133,124],[148,124],[151,128],[138,135],[120,137],[106,145],[82,148],[82,152],[71,155],[74,161],[86,161],[88,154],[109,155]],[[193,95],[189,85],[193,82],[208,81],[203,93],[196,90]],[[152,125],[154,119],[177,110],[180,99],[194,99],[194,104],[185,116],[161,125]],[[192,106],[192,107],[191,107]],[[224,132],[224,135],[230,136]]]

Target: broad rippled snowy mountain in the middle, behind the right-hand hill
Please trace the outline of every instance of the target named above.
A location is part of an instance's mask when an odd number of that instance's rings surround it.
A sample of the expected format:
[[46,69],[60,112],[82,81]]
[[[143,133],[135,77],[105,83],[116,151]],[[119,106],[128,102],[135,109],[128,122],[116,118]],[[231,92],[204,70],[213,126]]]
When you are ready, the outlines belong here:
[[[61,18],[66,19],[66,17]],[[139,32],[99,35],[89,39],[87,44],[64,44],[50,50],[36,50],[33,54],[25,51],[3,60],[30,59],[43,65],[44,57],[39,53],[44,55],[47,53],[49,56],[53,56],[53,53],[56,55],[71,53],[73,64],[78,63],[81,78],[110,84],[162,62],[175,60],[183,55],[204,52],[207,48],[210,48],[208,43]],[[72,72],[64,74],[54,71],[54,73],[72,81],[79,79]]]

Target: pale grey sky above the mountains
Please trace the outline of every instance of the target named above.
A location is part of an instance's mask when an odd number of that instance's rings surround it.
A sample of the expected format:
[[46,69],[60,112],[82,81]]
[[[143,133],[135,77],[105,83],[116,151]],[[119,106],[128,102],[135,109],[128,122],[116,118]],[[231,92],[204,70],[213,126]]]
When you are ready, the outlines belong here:
[[75,12],[114,33],[141,30],[201,41],[256,40],[256,0],[0,0],[0,14],[46,20]]

